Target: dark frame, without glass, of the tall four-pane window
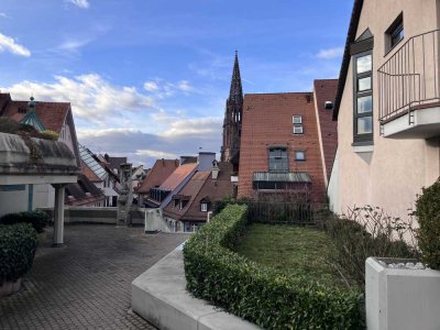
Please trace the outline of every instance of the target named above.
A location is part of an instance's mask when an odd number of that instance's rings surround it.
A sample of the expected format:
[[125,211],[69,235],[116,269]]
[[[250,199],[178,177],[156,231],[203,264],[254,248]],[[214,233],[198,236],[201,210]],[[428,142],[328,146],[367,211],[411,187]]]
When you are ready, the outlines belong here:
[[[364,56],[371,56],[371,70],[358,74],[358,58]],[[373,144],[373,134],[374,134],[374,121],[373,121],[373,112],[374,112],[374,99],[373,99],[373,51],[369,50],[362,53],[358,53],[353,55],[353,144],[355,143],[365,143],[371,142]],[[359,79],[362,78],[371,78],[371,88],[367,90],[359,90]],[[371,111],[358,113],[358,99],[362,97],[371,97]],[[358,133],[358,120],[361,118],[372,119],[372,132],[371,133]]]

